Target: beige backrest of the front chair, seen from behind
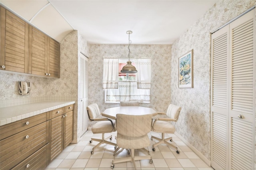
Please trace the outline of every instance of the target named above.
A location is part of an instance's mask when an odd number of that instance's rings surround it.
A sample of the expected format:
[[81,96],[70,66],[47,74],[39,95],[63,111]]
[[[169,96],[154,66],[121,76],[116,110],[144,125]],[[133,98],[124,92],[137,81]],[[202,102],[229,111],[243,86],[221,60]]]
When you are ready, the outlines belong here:
[[129,137],[140,137],[151,130],[152,115],[116,114],[116,130]]

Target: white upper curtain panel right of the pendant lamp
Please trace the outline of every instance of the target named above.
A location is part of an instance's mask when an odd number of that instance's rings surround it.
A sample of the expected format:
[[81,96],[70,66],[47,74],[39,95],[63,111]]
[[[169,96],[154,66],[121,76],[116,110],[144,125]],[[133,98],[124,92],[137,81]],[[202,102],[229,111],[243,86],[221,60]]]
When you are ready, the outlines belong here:
[[137,88],[150,89],[151,86],[151,59],[135,59],[136,69],[138,73]]

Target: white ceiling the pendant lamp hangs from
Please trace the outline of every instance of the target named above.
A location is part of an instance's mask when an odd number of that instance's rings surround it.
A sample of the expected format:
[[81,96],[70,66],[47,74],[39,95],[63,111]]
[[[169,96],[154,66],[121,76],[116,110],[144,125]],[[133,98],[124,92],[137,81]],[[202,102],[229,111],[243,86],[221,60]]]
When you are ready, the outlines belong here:
[[0,0],[55,40],[72,30],[88,43],[172,44],[217,0]]

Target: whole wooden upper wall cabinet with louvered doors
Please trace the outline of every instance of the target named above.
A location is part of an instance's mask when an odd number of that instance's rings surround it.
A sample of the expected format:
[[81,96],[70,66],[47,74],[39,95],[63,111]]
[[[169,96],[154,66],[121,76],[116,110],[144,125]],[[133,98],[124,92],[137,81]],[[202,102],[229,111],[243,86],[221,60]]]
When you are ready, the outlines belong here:
[[60,44],[0,6],[0,69],[60,77]]

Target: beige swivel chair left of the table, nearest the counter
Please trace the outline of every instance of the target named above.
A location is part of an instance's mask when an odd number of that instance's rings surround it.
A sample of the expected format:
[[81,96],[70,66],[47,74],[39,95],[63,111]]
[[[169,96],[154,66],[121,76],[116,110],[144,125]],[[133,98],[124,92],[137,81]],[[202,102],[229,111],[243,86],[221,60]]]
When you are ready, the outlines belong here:
[[98,134],[98,133],[102,134],[101,139],[91,138],[90,143],[92,143],[92,141],[99,142],[96,146],[94,146],[92,148],[91,154],[94,153],[95,148],[97,148],[98,146],[100,146],[103,143],[114,145],[116,148],[115,143],[107,141],[108,139],[112,140],[112,135],[107,138],[104,138],[105,133],[110,133],[110,132],[116,131],[116,128],[115,128],[116,121],[108,119],[108,118],[98,118],[100,116],[100,109],[96,103],[88,105],[86,109],[87,109],[89,120],[90,121],[98,121],[94,125],[92,125],[92,133],[93,134]]

